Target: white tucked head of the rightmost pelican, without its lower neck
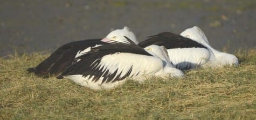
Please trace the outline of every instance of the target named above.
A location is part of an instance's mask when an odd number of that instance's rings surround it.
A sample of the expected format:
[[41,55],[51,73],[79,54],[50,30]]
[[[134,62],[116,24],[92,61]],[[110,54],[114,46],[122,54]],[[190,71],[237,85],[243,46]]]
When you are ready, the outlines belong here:
[[185,29],[185,31],[183,31],[181,35],[185,38],[192,39],[201,44],[209,44],[204,32],[197,26]]

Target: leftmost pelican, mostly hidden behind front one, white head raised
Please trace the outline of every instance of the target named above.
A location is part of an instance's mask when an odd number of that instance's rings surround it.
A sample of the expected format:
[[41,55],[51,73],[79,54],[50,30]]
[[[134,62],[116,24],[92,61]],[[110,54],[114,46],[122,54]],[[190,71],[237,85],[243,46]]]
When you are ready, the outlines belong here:
[[82,55],[91,49],[91,47],[100,44],[108,44],[107,42],[104,42],[104,40],[124,42],[124,40],[126,40],[123,37],[124,35],[132,38],[132,40],[134,40],[133,42],[138,43],[134,33],[128,27],[123,27],[123,29],[116,29],[115,31],[110,32],[104,39],[82,40],[64,44],[35,68],[27,69],[27,71],[34,72],[38,76],[45,76],[48,74],[59,75],[67,68],[67,66],[72,64],[75,57]]

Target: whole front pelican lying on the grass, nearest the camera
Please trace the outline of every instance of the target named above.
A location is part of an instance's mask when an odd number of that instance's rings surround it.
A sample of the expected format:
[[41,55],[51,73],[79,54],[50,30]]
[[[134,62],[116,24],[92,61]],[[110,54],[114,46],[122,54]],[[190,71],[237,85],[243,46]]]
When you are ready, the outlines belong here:
[[163,47],[140,48],[132,41],[113,42],[92,48],[58,78],[67,78],[92,89],[110,89],[127,79],[142,82],[147,76],[181,77],[183,72],[171,66]]

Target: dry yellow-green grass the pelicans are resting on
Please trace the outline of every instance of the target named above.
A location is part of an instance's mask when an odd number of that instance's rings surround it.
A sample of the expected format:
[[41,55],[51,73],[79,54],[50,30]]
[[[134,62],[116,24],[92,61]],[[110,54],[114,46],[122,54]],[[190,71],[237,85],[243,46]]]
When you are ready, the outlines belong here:
[[110,91],[27,74],[48,55],[0,59],[0,119],[256,119],[256,50],[238,52],[239,66]]

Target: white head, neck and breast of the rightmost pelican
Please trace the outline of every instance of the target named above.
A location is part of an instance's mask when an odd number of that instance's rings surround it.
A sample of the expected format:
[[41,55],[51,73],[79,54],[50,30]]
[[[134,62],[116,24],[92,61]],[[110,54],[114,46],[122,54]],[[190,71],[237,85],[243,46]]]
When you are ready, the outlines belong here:
[[190,38],[200,44],[203,44],[210,51],[209,61],[202,65],[203,67],[216,68],[224,65],[238,65],[238,58],[234,55],[220,52],[210,46],[204,32],[197,26],[186,29],[181,33],[182,36]]

